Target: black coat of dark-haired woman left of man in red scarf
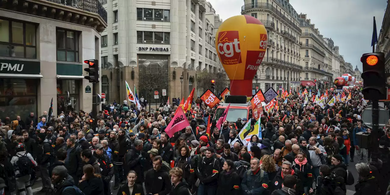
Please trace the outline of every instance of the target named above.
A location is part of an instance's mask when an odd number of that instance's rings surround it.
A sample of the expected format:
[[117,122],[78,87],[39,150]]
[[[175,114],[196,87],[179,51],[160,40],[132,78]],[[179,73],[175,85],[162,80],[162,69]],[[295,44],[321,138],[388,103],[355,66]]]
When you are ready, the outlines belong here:
[[216,195],[239,195],[240,177],[234,169],[226,172],[223,170],[219,174],[218,188]]

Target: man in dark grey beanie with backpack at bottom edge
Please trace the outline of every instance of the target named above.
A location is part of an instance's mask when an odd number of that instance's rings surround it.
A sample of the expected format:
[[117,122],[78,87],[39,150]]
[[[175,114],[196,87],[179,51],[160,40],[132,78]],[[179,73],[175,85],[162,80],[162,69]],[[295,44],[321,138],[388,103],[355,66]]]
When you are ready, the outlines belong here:
[[[85,195],[74,185],[73,177],[68,174],[65,166],[61,165],[53,168],[51,183],[54,188],[53,195]],[[103,184],[101,187],[103,188]]]

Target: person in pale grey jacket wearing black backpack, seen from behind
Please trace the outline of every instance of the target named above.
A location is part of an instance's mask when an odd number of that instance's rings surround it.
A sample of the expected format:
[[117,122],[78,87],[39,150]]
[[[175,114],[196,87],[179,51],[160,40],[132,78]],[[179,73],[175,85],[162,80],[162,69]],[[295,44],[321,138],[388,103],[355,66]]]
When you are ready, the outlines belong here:
[[12,157],[11,164],[15,170],[16,187],[20,195],[32,195],[30,177],[34,172],[34,167],[38,164],[31,154],[25,151],[25,145],[16,145],[16,155]]

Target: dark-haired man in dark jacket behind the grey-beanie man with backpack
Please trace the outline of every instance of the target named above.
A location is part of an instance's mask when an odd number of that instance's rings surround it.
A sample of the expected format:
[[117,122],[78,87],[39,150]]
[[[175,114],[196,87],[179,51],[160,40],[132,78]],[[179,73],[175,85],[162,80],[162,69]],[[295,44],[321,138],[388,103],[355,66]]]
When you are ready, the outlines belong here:
[[65,159],[65,167],[68,170],[68,174],[73,177],[74,181],[78,181],[82,176],[83,163],[81,160],[82,148],[76,146],[76,140],[74,138],[68,138],[66,140],[67,153]]

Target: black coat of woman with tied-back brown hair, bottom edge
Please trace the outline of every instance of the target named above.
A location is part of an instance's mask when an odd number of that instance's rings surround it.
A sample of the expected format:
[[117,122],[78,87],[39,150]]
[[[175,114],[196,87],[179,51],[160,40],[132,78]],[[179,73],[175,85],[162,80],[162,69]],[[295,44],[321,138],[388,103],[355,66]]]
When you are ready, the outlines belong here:
[[85,195],[104,195],[103,180],[100,177],[92,176],[78,184],[78,188]]

